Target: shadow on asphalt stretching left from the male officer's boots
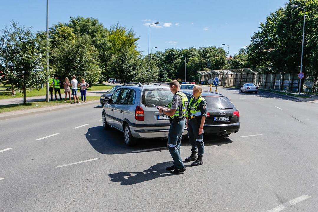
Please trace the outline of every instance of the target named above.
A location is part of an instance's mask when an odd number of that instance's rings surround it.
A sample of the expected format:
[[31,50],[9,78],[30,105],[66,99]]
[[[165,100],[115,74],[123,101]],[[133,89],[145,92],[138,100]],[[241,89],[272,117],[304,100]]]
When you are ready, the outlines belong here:
[[169,171],[166,170],[166,167],[171,166],[171,164],[172,163],[170,161],[157,163],[142,172],[118,172],[115,174],[108,174],[108,176],[111,178],[110,181],[121,182],[122,186],[128,186],[154,180],[158,177],[174,176],[175,174],[170,174]]

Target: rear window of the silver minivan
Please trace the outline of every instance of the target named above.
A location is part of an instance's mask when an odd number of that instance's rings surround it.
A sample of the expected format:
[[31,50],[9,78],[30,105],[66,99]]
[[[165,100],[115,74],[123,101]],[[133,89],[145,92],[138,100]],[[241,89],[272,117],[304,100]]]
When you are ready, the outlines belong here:
[[142,92],[142,103],[147,107],[166,106],[170,103],[173,94],[170,89],[145,89]]

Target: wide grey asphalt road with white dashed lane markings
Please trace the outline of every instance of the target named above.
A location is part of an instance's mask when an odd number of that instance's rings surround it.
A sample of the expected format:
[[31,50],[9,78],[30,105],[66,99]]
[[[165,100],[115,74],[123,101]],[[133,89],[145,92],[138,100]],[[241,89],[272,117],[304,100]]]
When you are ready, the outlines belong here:
[[218,91],[239,109],[240,131],[204,138],[204,164],[179,175],[165,170],[165,140],[126,147],[103,130],[98,105],[0,121],[0,211],[316,212],[317,104]]

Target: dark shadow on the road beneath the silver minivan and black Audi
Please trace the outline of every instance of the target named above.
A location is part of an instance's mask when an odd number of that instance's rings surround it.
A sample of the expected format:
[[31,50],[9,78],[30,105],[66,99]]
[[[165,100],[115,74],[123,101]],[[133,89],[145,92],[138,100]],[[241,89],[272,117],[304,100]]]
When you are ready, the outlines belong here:
[[[136,146],[128,147],[124,143],[122,132],[114,128],[104,130],[102,126],[88,128],[85,137],[90,145],[101,154],[127,154],[167,150],[167,139],[160,138],[138,139]],[[230,143],[232,143],[232,140],[228,137],[223,138],[213,135],[204,137],[205,146],[220,146]],[[190,148],[190,143],[186,136],[181,141],[181,146]]]

